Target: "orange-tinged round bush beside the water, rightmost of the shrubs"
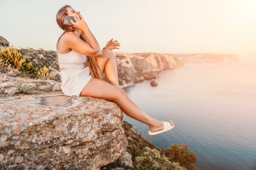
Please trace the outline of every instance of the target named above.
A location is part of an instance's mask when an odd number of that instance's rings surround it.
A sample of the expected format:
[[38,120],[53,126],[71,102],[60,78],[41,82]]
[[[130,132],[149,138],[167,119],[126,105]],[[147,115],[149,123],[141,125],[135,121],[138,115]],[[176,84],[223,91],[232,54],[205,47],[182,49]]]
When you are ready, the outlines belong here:
[[172,144],[169,148],[166,149],[166,156],[169,157],[169,160],[172,162],[179,162],[182,167],[187,168],[188,170],[199,170],[194,167],[193,163],[196,162],[196,153],[189,153],[189,144]]

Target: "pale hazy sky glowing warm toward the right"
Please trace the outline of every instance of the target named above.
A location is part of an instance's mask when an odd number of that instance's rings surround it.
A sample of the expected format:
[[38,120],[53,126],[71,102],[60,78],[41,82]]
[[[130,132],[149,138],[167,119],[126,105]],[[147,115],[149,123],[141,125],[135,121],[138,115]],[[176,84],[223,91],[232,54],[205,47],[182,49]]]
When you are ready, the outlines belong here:
[[256,61],[256,0],[0,0],[0,35],[15,47],[56,50],[58,10],[80,11],[103,48],[225,53]]

